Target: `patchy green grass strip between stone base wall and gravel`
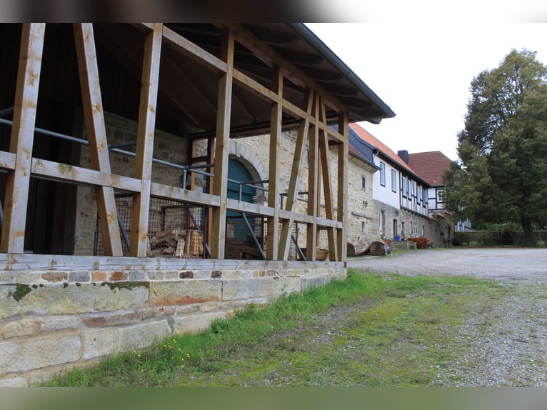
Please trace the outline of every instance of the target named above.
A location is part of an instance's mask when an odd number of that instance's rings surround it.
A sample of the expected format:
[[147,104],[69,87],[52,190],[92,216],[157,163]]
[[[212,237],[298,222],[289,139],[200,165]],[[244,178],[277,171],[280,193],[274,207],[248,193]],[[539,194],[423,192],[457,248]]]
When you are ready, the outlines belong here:
[[74,369],[47,386],[431,386],[471,301],[501,287],[363,274],[250,306],[202,334]]

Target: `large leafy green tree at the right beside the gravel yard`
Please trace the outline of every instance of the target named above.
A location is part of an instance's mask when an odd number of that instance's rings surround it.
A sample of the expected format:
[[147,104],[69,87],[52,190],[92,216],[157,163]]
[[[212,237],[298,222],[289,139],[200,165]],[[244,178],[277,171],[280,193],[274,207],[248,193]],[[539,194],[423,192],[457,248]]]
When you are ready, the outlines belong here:
[[473,224],[518,222],[526,245],[547,221],[547,67],[511,51],[471,82],[458,156],[445,173],[448,209]]

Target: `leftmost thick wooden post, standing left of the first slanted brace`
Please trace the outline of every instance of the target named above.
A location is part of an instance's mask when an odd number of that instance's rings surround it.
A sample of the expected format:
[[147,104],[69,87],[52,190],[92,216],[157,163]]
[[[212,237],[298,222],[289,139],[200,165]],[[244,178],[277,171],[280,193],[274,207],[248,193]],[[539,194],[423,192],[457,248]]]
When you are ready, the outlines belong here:
[[14,154],[15,161],[14,169],[8,171],[6,176],[0,252],[22,254],[24,251],[31,156],[45,29],[46,24],[23,24],[21,32],[9,145],[9,151]]

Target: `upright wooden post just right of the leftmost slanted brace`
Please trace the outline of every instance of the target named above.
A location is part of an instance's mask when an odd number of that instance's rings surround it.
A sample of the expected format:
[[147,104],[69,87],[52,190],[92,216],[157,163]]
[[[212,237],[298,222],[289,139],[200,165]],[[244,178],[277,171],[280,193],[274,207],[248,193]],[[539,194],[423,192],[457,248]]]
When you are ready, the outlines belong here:
[[141,81],[141,104],[137,126],[135,178],[141,179],[141,191],[133,196],[131,208],[131,239],[129,255],[146,257],[148,244],[148,220],[154,154],[154,129],[158,101],[159,62],[163,24],[154,24],[154,31],[146,36]]

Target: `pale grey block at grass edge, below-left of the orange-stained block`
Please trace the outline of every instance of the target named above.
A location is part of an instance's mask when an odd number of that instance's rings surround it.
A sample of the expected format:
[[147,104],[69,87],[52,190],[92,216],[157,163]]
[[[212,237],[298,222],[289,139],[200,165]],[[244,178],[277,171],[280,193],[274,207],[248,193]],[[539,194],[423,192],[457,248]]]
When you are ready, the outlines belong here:
[[118,335],[120,351],[142,349],[171,336],[171,327],[166,320],[154,321],[122,327]]

